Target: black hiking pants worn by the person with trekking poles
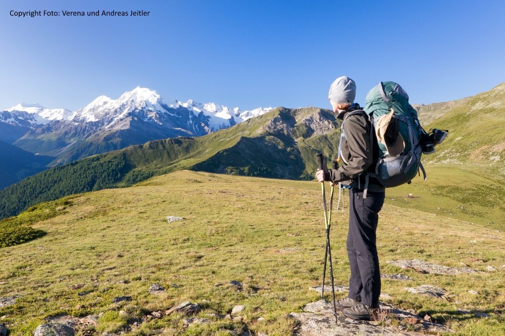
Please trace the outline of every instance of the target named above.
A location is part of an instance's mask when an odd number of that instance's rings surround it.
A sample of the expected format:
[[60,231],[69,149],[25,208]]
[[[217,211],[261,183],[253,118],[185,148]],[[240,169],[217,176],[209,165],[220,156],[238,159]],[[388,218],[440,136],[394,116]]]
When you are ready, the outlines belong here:
[[349,298],[367,306],[379,306],[380,272],[376,230],[385,192],[351,188],[349,192],[349,232],[347,255],[350,263]]

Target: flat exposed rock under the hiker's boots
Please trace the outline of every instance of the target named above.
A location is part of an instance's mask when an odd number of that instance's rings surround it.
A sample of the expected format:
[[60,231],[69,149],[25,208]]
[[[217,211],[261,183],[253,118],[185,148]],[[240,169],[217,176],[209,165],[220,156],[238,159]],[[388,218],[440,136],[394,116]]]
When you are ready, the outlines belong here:
[[[304,313],[291,313],[290,316],[296,318],[299,328],[294,334],[297,336],[337,336],[337,335],[423,335],[424,332],[451,332],[452,330],[443,325],[430,322],[420,318],[420,316],[407,311],[398,310],[392,306],[381,304],[381,313],[384,318],[394,318],[398,320],[410,319],[411,322],[417,322],[414,325],[415,330],[406,331],[390,325],[379,325],[376,321],[358,321],[347,318],[337,312],[337,322],[333,315],[333,305],[331,302],[320,300],[309,303],[304,307]],[[379,320],[382,316],[379,316]]]

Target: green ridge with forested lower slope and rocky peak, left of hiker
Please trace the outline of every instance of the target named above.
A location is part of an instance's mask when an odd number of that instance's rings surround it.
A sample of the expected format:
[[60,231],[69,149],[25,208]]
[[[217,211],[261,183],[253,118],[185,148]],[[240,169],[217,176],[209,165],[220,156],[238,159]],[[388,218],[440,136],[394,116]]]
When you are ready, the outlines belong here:
[[0,218],[41,201],[129,186],[181,169],[312,179],[316,153],[336,153],[334,116],[317,108],[277,108],[204,137],[150,141],[30,176],[0,191]]

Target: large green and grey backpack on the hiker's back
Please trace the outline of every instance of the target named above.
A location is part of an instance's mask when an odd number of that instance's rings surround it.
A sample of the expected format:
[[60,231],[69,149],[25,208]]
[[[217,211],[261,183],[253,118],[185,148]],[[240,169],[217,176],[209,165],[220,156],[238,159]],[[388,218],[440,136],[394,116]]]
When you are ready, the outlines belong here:
[[426,172],[421,164],[422,148],[419,144],[422,128],[417,111],[409,103],[409,95],[405,90],[394,82],[380,82],[368,92],[364,110],[370,117],[374,132],[379,120],[392,113],[392,117],[398,120],[398,132],[405,143],[405,149],[400,154],[391,156],[386,146],[377,141],[379,159],[375,174],[369,174],[374,175],[384,187],[410,183],[419,170],[423,172],[426,180]]

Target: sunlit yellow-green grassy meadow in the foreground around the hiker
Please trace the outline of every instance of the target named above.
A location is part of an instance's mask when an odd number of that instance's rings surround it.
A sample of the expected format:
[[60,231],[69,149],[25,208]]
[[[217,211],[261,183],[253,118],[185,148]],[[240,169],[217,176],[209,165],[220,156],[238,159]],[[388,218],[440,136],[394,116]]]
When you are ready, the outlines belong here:
[[[120,309],[136,317],[146,310],[164,310],[190,300],[203,305],[198,314],[202,317],[226,314],[234,305],[244,304],[242,316],[249,329],[291,335],[293,321],[286,314],[318,300],[318,294],[308,287],[318,285],[322,273],[325,238],[320,197],[316,182],[189,171],[74,197],[60,216],[35,224],[34,228],[47,232],[44,237],[1,250],[0,296],[23,298],[0,308],[0,315],[6,315],[3,321],[12,335],[31,334],[42,318],[58,313],[82,316],[108,311],[107,316],[112,320],[116,316],[116,322],[102,319],[99,328],[114,330],[123,323],[117,315]],[[185,220],[168,223],[168,215]],[[347,214],[334,213],[332,222],[335,281],[346,285]],[[389,197],[379,223],[382,273],[402,273],[414,279],[383,280],[383,292],[393,297],[393,304],[447,320],[458,334],[505,332],[504,271],[500,269],[505,259],[503,232],[402,209]],[[279,252],[282,248],[297,250]],[[423,275],[385,263],[413,258],[448,266],[463,262],[478,271],[491,265],[498,272]],[[122,280],[129,283],[118,283]],[[247,286],[237,292],[226,285],[231,280]],[[166,294],[148,294],[152,283],[162,284]],[[216,283],[224,286],[213,286]],[[72,290],[75,284],[84,287]],[[456,301],[416,296],[403,289],[424,284],[445,288]],[[255,288],[262,289],[255,293]],[[469,290],[479,294],[469,294]],[[80,292],[89,293],[78,296]],[[112,304],[113,297],[123,295],[132,296],[133,301]],[[84,308],[77,309],[79,304]],[[458,315],[457,308],[483,311],[490,317]],[[264,321],[256,321],[262,316]],[[241,322],[216,319],[207,326],[183,330],[180,319],[175,314],[144,322],[131,333],[165,329],[165,334],[205,335],[242,326]]]

